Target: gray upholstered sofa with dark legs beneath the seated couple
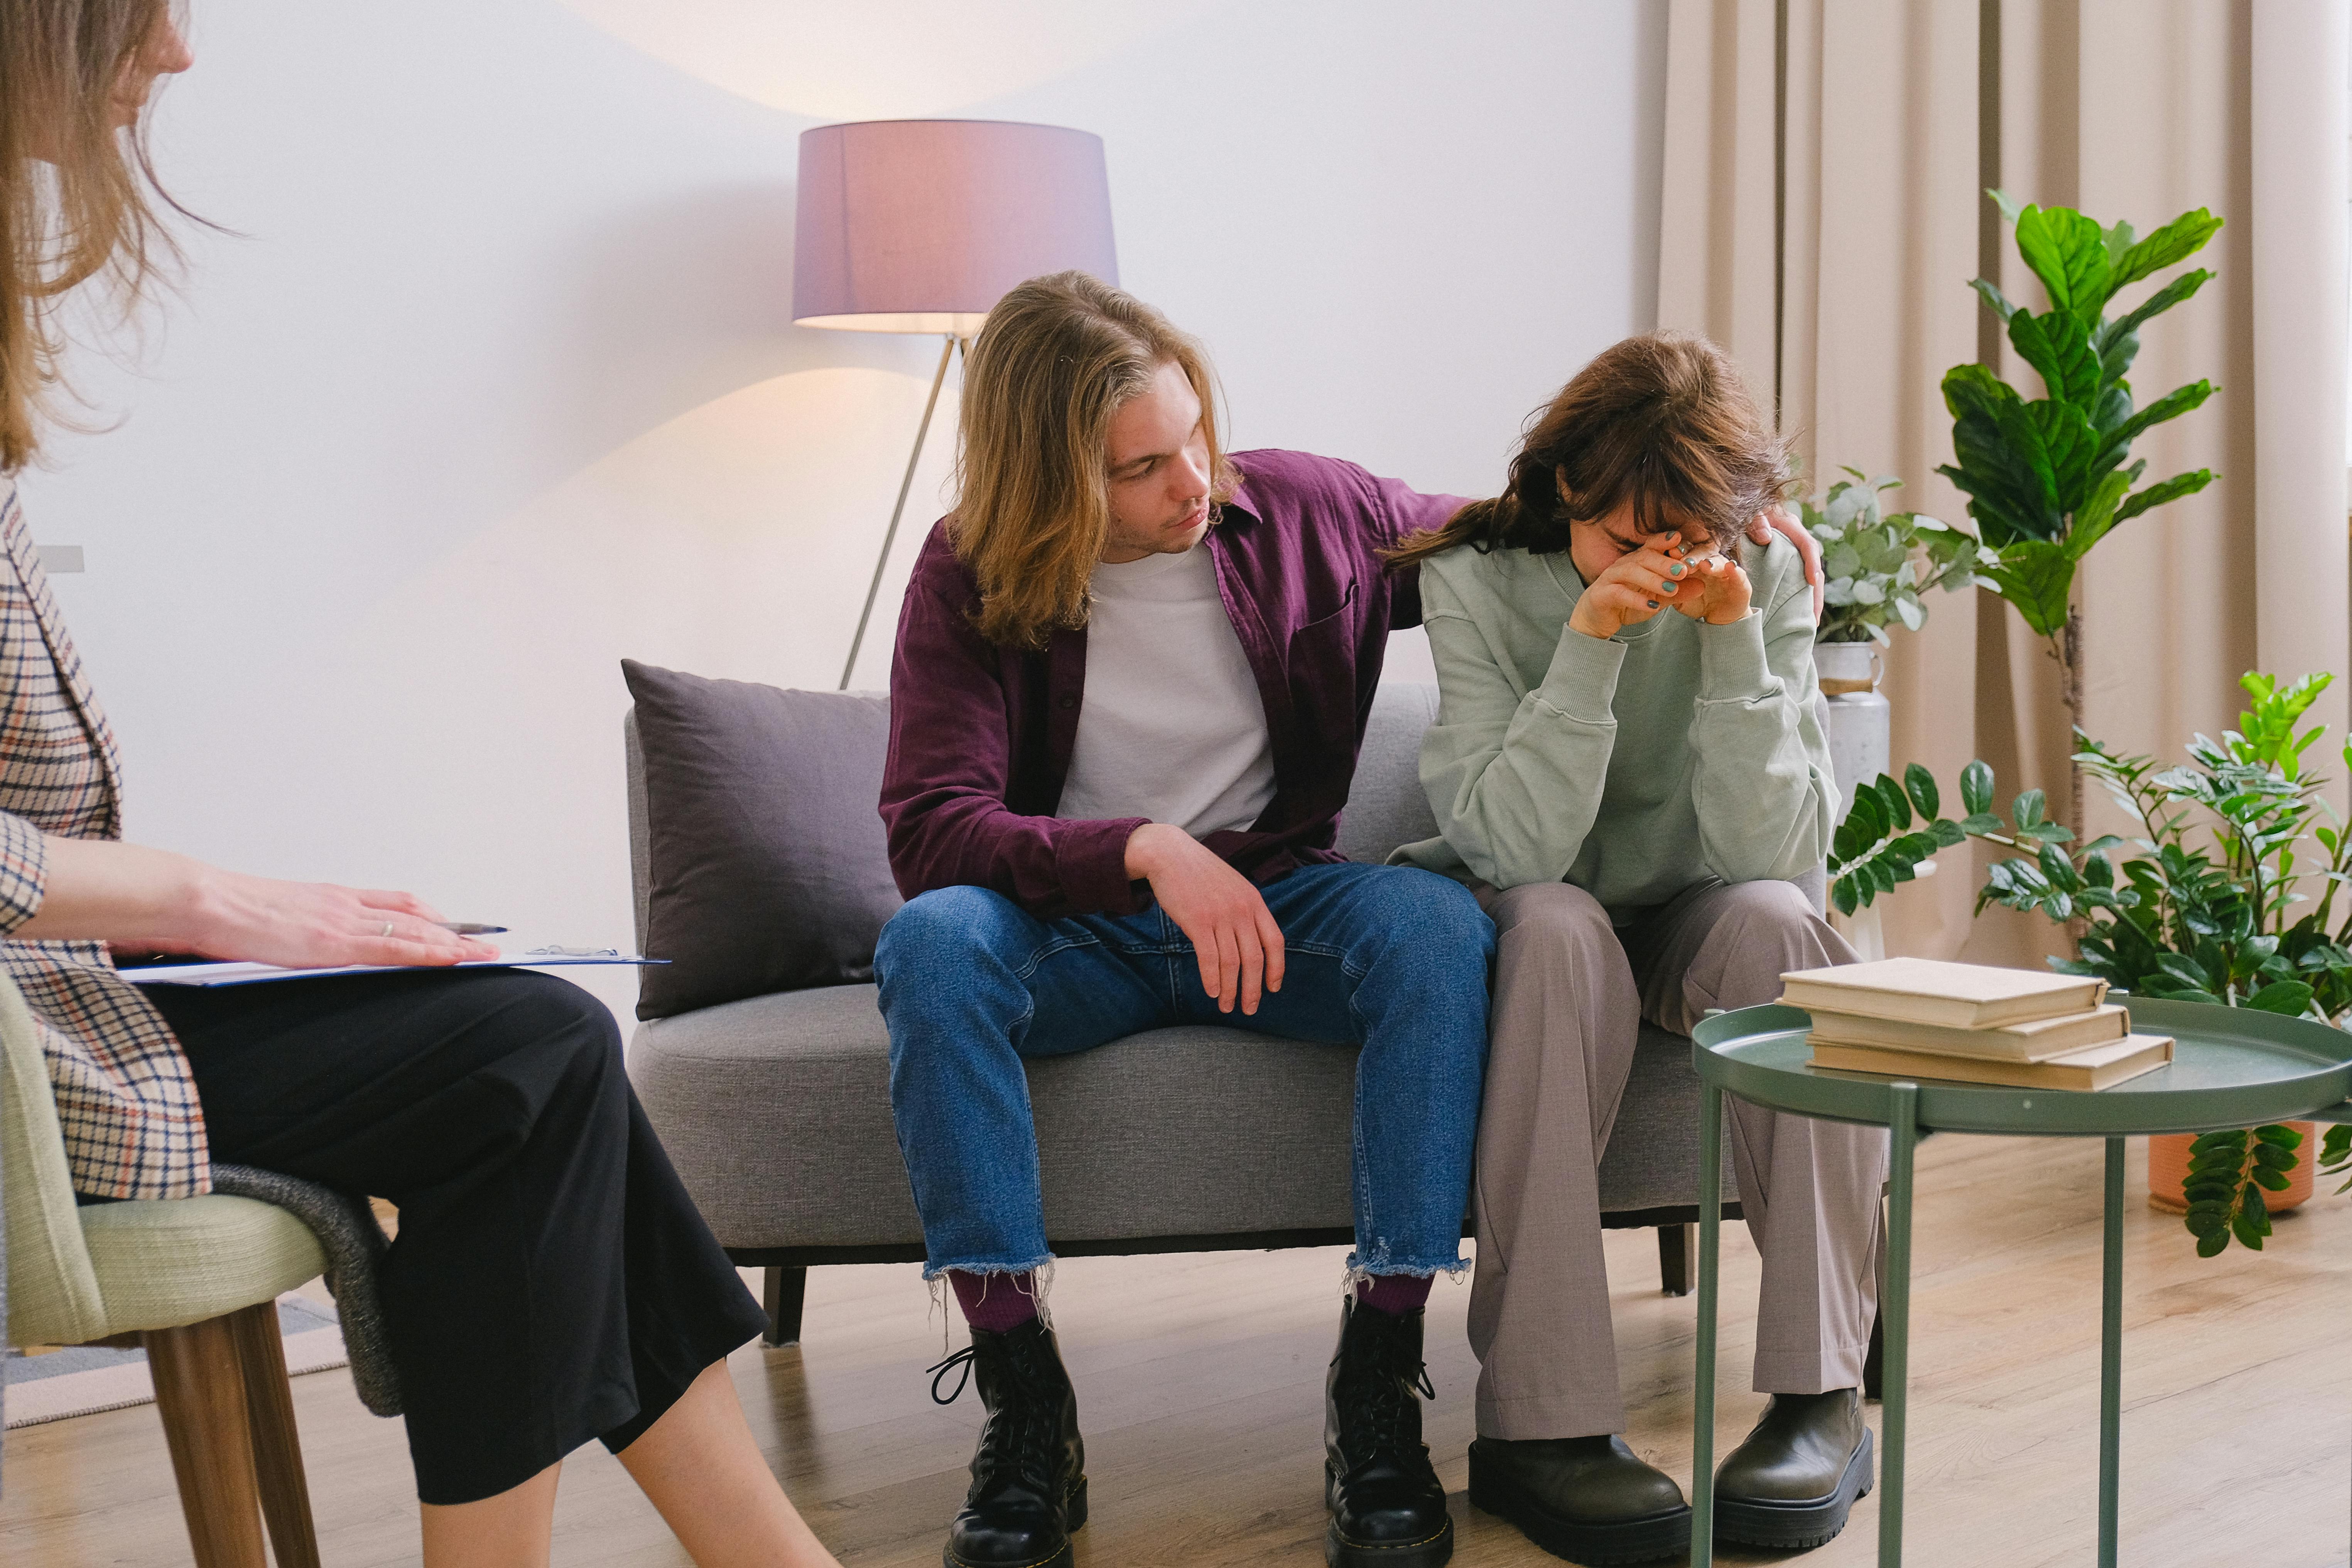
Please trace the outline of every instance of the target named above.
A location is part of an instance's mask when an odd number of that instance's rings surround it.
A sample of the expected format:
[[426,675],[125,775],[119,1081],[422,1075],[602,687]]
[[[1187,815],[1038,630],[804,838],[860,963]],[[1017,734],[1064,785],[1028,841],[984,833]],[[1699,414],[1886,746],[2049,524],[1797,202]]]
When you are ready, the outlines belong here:
[[[1421,731],[1435,712],[1435,686],[1390,684],[1374,698],[1341,823],[1350,858],[1383,860],[1397,844],[1437,832],[1418,778]],[[652,832],[635,712],[623,743],[642,945]],[[880,776],[837,788],[870,802]],[[1818,903],[1820,889],[1811,891]],[[656,1018],[637,1027],[628,1060],[720,1244],[741,1267],[767,1269],[771,1345],[800,1338],[809,1267],[922,1258],[873,985],[788,990]],[[1352,1051],[1174,1027],[1030,1063],[1028,1074],[1056,1253],[1350,1239]],[[1696,1124],[1691,1041],[1642,1025],[1599,1192],[1609,1225],[1658,1227],[1663,1286],[1675,1295],[1691,1281]],[[1729,1159],[1724,1180],[1726,1190],[1736,1180]],[[1724,1213],[1738,1215],[1738,1204]]]

